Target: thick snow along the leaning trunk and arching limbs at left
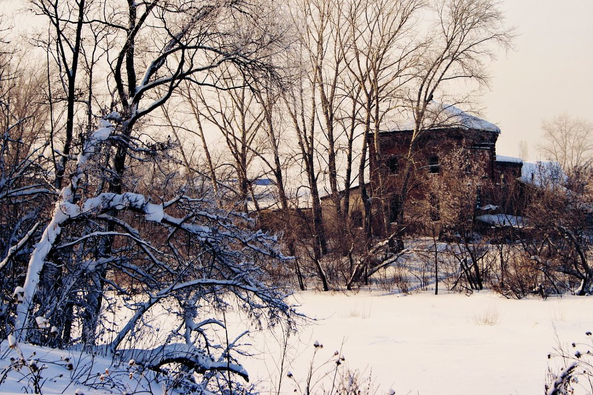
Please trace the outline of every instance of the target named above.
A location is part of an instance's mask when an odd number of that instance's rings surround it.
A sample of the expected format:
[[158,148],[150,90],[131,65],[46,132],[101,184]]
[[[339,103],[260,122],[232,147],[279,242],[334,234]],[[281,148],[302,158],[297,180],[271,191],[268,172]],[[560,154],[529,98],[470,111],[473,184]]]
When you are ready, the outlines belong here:
[[[154,303],[164,297],[171,296],[171,294],[184,290],[187,288],[205,287],[205,286],[220,286],[231,287],[234,290],[235,296],[238,300],[245,304],[253,306],[254,310],[258,309],[280,309],[287,310],[288,307],[283,303],[282,298],[285,296],[279,293],[275,288],[270,288],[263,282],[251,278],[251,274],[259,270],[256,266],[252,266],[250,261],[250,254],[259,256],[268,256],[270,258],[284,259],[277,248],[273,247],[276,239],[274,236],[266,235],[261,230],[256,232],[240,232],[240,228],[232,224],[228,218],[221,217],[218,214],[211,213],[205,210],[190,210],[190,214],[186,217],[174,217],[164,212],[165,207],[173,207],[171,202],[164,204],[151,203],[148,198],[142,194],[132,192],[125,192],[122,194],[115,194],[111,192],[103,192],[96,197],[84,199],[79,203],[74,203],[74,194],[78,188],[78,182],[82,175],[82,170],[91,156],[97,150],[96,144],[106,140],[113,131],[113,126],[103,126],[98,129],[91,139],[85,144],[83,152],[79,155],[76,172],[72,175],[71,183],[63,188],[56,208],[52,216],[52,220],[44,231],[39,243],[35,246],[33,253],[31,253],[27,278],[24,283],[24,303],[18,306],[18,324],[17,328],[21,329],[21,339],[26,338],[27,314],[30,313],[31,300],[37,292],[37,284],[40,280],[40,273],[43,269],[44,262],[47,256],[55,251],[56,248],[63,249],[72,247],[91,237],[101,236],[125,236],[130,237],[144,250],[146,256],[156,264],[161,264],[157,256],[153,255],[151,250],[157,253],[160,251],[151,246],[149,242],[143,240],[138,230],[131,228],[125,221],[117,220],[120,226],[125,229],[121,232],[91,232],[87,235],[71,240],[68,243],[58,246],[58,239],[62,232],[62,227],[71,222],[82,218],[101,218],[109,220],[108,213],[113,210],[128,210],[133,213],[144,215],[144,220],[155,224],[160,224],[165,229],[171,229],[171,232],[182,231],[192,235],[196,242],[204,243],[206,250],[213,254],[213,258],[225,267],[228,271],[228,278],[201,278],[189,282],[174,282],[165,288],[161,288],[156,294],[153,294],[146,303],[141,304],[138,309],[139,316],[144,311],[148,310]],[[184,197],[176,199],[177,202],[183,202]],[[107,217],[106,217],[107,216]],[[239,218],[239,217],[238,217]],[[243,218],[243,217],[240,217]],[[198,224],[202,223],[202,224]],[[211,223],[212,226],[206,226],[203,223]],[[232,243],[234,247],[229,248],[228,243]],[[151,275],[146,274],[142,269],[135,265],[125,265],[128,273],[137,273],[141,278],[152,278]],[[123,266],[122,266],[123,268]],[[155,283],[156,284],[156,283]],[[248,296],[253,294],[256,297]],[[259,300],[259,301],[256,301]],[[139,317],[138,316],[138,317]],[[138,318],[136,317],[136,319]],[[117,341],[114,341],[112,350],[117,348],[119,342],[135,325],[135,319],[130,320],[130,325],[126,326],[120,336],[117,336]]]

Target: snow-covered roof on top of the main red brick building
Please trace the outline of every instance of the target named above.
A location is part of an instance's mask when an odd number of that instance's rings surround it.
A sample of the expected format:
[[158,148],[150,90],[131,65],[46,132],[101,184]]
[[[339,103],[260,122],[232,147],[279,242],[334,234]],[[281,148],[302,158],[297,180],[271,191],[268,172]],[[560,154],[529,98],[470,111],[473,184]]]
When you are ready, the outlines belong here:
[[[425,114],[423,127],[426,129],[442,129],[457,127],[463,130],[492,131],[500,134],[500,128],[493,123],[482,118],[471,115],[451,104],[438,103],[431,101],[426,107],[428,114]],[[390,131],[413,130],[415,123],[413,120],[399,122],[390,126]]]

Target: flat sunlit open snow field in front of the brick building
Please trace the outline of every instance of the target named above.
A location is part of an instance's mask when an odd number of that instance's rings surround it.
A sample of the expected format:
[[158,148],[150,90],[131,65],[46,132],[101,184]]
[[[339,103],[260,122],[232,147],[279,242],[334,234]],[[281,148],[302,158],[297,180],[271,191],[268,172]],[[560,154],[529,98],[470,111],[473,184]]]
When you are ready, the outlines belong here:
[[[313,343],[319,341],[325,346],[319,361],[342,348],[350,369],[372,371],[378,394],[390,388],[396,394],[543,393],[548,364],[554,363],[547,354],[558,341],[568,348],[587,341],[585,332],[593,329],[589,297],[508,300],[489,291],[471,296],[376,291],[307,292],[297,299],[299,310],[318,322],[289,340],[289,356],[296,359],[288,370],[295,379],[307,374]],[[251,377],[270,385],[266,377],[278,374],[278,341],[260,335],[254,343],[262,354],[246,367]],[[284,380],[283,392],[293,387]]]

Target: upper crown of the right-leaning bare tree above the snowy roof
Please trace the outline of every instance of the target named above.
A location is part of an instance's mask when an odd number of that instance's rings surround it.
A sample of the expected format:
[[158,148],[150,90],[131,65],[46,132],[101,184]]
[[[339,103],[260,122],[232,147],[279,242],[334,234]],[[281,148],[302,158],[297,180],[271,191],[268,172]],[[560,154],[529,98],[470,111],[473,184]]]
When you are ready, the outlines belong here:
[[438,17],[410,96],[415,123],[410,158],[420,134],[442,121],[439,114],[428,110],[433,98],[452,82],[487,85],[487,60],[495,58],[499,47],[508,49],[514,37],[514,30],[505,26],[505,16],[496,1],[441,0],[434,8]]

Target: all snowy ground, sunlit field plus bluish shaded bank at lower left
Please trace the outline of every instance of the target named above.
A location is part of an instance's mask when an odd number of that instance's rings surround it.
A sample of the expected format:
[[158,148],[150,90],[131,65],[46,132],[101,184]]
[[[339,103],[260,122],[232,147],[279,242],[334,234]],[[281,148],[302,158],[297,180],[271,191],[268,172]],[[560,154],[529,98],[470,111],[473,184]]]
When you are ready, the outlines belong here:
[[[377,394],[388,394],[391,389],[404,395],[543,393],[549,364],[554,368],[560,362],[548,359],[547,354],[554,352],[559,342],[569,350],[572,342],[586,342],[585,332],[593,329],[593,299],[589,297],[508,300],[490,291],[470,296],[435,296],[431,291],[423,291],[405,296],[374,290],[356,294],[307,291],[293,299],[300,305],[297,311],[315,320],[289,336],[282,371],[284,332],[280,328],[269,332],[252,327],[254,332],[243,338],[245,345],[241,349],[253,357],[240,360],[250,374],[250,383],[255,383],[262,394],[277,393],[280,376],[280,393],[294,393],[295,381],[302,384],[308,373],[315,342],[324,347],[317,349],[314,366],[330,362],[313,375],[313,383],[320,381],[324,372],[333,370],[338,358],[334,351],[339,351],[345,357],[339,370],[362,371],[362,378],[370,374]],[[133,341],[135,346],[144,342],[149,346],[173,329],[173,322],[165,321],[162,313],[160,309],[152,311],[153,333],[138,333]],[[125,311],[119,314],[126,316]],[[237,314],[227,313],[227,322],[229,338],[246,329],[246,322]],[[225,333],[218,331],[217,336],[224,345]],[[1,367],[9,364],[5,359],[7,346],[7,342],[0,344],[4,358]],[[96,386],[82,386],[85,394],[110,393],[111,376],[122,383],[111,388],[115,393],[161,393],[160,384],[139,384],[136,377],[129,380],[130,367],[126,362],[115,366],[110,359],[98,357],[91,361],[77,352],[29,345],[21,348],[25,357],[34,351],[37,361],[56,362],[49,364],[49,370],[43,374],[50,378],[44,385],[44,394],[62,393],[68,385],[71,372],[65,368],[65,357],[90,367],[83,381]],[[111,370],[111,376],[101,382],[97,374],[106,368]],[[289,371],[293,378],[286,376]],[[53,378],[59,374],[64,377],[54,383]],[[3,391],[21,393],[25,382],[16,381],[18,378],[11,375],[0,386],[0,395]],[[312,393],[323,394],[329,389],[328,378],[324,380],[317,383]],[[72,383],[64,393],[74,393],[78,387],[81,384]]]

